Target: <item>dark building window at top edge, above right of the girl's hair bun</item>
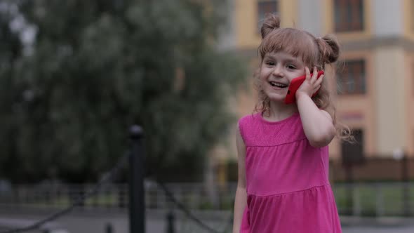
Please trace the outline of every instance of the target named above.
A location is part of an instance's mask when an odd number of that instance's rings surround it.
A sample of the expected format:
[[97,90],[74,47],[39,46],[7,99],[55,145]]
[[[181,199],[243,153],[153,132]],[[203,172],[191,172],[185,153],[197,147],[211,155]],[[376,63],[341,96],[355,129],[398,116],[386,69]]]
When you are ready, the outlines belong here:
[[363,30],[363,0],[334,0],[335,32]]

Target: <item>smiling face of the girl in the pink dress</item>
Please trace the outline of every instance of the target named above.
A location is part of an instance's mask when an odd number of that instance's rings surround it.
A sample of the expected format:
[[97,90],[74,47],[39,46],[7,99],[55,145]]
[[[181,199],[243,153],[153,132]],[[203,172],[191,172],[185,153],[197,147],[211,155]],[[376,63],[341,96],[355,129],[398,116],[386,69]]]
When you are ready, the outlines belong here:
[[292,79],[305,74],[305,63],[283,51],[267,53],[260,67],[262,89],[271,101],[284,101]]

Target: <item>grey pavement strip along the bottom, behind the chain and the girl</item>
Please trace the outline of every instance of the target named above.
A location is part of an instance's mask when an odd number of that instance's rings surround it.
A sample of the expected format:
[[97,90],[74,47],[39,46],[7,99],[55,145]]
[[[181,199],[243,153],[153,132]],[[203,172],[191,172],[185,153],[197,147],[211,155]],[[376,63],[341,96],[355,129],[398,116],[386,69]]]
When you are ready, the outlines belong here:
[[[50,215],[50,210],[22,210],[0,207],[0,233],[4,229],[25,227]],[[231,213],[226,211],[202,211],[194,213],[209,227],[218,232],[231,232]],[[167,211],[147,211],[146,232],[167,232]],[[175,233],[208,233],[194,221],[175,211]],[[343,233],[413,233],[414,218],[356,218],[341,216]],[[40,230],[29,233],[126,233],[129,229],[128,213],[125,211],[81,211],[74,210],[57,220],[48,222]]]

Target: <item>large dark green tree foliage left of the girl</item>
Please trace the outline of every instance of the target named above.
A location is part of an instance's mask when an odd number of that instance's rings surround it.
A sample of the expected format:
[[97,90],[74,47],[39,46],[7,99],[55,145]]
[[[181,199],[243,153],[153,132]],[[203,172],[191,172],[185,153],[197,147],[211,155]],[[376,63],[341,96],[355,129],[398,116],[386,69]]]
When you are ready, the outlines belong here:
[[216,49],[225,1],[19,2],[37,33],[24,53],[1,13],[1,44],[13,46],[0,47],[0,177],[95,180],[128,149],[132,124],[149,173],[200,174],[245,76]]

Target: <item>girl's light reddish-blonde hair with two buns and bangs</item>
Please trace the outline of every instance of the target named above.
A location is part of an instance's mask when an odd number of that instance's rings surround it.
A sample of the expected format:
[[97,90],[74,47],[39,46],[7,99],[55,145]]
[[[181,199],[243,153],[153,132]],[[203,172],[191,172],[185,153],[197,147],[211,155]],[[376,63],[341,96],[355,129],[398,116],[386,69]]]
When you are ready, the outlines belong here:
[[[262,43],[258,48],[260,66],[267,53],[283,51],[302,58],[307,67],[316,66],[318,69],[324,70],[326,65],[330,65],[333,74],[335,74],[333,62],[336,62],[340,55],[340,46],[335,36],[328,34],[316,38],[304,30],[280,28],[280,19],[276,15],[267,16],[263,22],[261,34]],[[258,88],[259,96],[259,102],[255,106],[255,111],[265,113],[269,112],[270,100],[261,87],[258,79],[259,71],[260,67],[255,72],[255,86]],[[349,127],[340,124],[336,119],[336,109],[333,105],[326,79],[323,80],[321,88],[312,100],[317,107],[326,110],[332,116],[338,138],[352,142],[353,137]]]

